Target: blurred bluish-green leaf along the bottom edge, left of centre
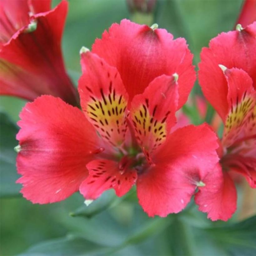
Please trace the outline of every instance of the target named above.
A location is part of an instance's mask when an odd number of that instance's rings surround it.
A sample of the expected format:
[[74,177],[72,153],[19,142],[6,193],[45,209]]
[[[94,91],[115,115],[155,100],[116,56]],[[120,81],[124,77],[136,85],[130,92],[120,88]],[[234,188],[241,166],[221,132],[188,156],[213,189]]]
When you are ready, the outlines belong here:
[[98,255],[106,249],[96,243],[74,236],[52,239],[33,245],[22,255]]

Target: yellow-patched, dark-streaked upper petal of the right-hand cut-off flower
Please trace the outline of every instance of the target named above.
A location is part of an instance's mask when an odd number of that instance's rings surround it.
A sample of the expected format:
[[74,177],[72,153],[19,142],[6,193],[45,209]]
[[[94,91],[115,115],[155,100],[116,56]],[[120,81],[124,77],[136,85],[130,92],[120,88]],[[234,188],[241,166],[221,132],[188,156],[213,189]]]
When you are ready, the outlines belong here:
[[[225,120],[224,136],[222,143],[228,147],[234,141],[248,136],[250,122],[255,123],[254,108],[256,106],[256,93],[253,81],[242,69],[232,68],[225,71],[228,83],[228,107],[229,111]],[[250,118],[253,114],[253,117]],[[256,118],[256,117],[255,117]],[[256,127],[250,127],[256,135]]]

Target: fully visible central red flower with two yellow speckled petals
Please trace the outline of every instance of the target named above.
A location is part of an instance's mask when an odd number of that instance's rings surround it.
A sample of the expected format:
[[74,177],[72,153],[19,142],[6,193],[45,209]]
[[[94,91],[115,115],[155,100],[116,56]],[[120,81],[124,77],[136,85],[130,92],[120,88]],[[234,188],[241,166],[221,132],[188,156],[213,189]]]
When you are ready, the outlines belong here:
[[123,20],[93,51],[98,55],[81,49],[83,112],[42,96],[20,114],[23,196],[44,204],[80,190],[94,200],[111,188],[122,196],[136,184],[149,216],[181,211],[219,160],[207,125],[170,133],[195,81],[185,40]]

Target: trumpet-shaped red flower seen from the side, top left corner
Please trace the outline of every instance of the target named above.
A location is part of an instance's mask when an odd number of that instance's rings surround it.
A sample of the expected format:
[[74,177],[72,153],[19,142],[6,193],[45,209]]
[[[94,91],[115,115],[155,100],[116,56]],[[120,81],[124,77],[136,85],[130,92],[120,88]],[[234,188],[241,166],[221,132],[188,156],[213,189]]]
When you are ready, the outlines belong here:
[[1,95],[32,101],[49,94],[77,106],[61,51],[68,3],[52,10],[50,5],[50,0],[1,1]]

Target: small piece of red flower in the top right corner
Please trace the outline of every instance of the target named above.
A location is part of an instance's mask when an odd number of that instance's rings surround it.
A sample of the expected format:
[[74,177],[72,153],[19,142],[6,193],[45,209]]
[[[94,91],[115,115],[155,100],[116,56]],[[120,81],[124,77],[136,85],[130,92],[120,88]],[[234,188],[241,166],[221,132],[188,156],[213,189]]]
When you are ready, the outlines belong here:
[[242,10],[236,24],[246,27],[256,21],[256,0],[244,0]]

